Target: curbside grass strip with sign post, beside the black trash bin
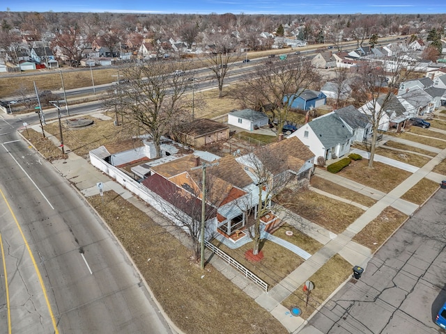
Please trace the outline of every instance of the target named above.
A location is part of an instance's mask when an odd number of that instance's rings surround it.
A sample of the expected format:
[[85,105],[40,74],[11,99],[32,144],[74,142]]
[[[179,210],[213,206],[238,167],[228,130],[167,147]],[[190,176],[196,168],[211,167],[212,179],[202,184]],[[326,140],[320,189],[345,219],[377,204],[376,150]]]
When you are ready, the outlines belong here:
[[348,276],[352,275],[352,269],[353,266],[344,260],[341,255],[334,255],[309,278],[314,284],[314,289],[309,296],[307,307],[305,307],[307,292],[303,291],[304,285],[301,285],[291,296],[285,299],[282,305],[289,309],[300,308],[302,311],[301,317],[307,319]]

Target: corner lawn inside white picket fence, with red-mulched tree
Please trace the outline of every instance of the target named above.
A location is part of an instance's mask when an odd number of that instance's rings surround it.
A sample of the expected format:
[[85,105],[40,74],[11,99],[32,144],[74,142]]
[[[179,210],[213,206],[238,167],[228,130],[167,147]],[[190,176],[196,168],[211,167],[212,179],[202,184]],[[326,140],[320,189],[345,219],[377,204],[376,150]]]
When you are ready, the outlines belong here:
[[259,262],[249,262],[245,258],[245,252],[252,249],[252,242],[236,249],[226,247],[215,239],[212,243],[268,283],[268,289],[304,262],[299,255],[269,240],[261,241],[260,250],[263,253],[263,259]]

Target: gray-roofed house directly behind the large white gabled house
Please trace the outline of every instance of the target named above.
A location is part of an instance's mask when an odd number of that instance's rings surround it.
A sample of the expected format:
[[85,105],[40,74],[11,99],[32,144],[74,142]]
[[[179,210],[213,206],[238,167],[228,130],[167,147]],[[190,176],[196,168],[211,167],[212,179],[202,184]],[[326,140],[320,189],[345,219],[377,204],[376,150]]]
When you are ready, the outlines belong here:
[[354,106],[334,110],[347,128],[353,134],[353,141],[367,141],[371,136],[371,122],[367,115],[357,110]]

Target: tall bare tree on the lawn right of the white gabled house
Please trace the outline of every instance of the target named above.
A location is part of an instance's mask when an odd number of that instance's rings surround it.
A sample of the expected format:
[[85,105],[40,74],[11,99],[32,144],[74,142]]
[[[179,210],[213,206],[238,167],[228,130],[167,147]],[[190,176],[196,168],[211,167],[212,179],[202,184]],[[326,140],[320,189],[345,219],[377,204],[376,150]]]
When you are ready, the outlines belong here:
[[365,102],[359,108],[371,123],[371,150],[369,168],[374,168],[374,155],[378,128],[381,125],[383,114],[395,108],[397,98],[394,93],[399,84],[409,79],[416,68],[415,58],[410,57],[407,51],[394,51],[380,61],[367,63],[359,67],[359,76],[353,83],[355,99]]

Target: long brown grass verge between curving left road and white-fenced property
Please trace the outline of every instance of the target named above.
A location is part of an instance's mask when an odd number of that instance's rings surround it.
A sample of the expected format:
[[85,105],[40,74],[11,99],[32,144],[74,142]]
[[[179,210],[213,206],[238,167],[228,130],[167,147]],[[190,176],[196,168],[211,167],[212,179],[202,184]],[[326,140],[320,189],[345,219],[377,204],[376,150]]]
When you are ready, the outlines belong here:
[[103,202],[100,196],[87,200],[121,241],[167,315],[185,333],[287,333],[210,264],[201,271],[190,260],[189,249],[117,193],[105,192]]

